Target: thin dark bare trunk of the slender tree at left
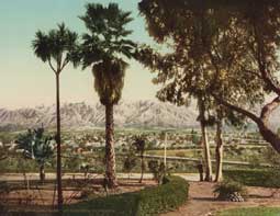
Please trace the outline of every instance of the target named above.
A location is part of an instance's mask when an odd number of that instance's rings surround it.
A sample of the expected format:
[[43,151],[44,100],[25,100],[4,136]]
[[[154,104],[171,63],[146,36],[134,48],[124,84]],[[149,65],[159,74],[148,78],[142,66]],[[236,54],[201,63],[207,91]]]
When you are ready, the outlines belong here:
[[59,100],[59,73],[56,73],[56,144],[57,144],[57,207],[63,209],[63,184],[61,184],[61,137],[60,137],[60,100]]

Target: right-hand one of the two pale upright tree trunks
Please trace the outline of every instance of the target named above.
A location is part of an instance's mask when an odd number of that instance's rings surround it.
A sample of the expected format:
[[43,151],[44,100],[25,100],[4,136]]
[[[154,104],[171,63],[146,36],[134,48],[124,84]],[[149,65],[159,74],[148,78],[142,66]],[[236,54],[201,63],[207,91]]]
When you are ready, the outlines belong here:
[[222,120],[219,118],[216,123],[216,175],[215,182],[223,179],[223,138],[222,138]]

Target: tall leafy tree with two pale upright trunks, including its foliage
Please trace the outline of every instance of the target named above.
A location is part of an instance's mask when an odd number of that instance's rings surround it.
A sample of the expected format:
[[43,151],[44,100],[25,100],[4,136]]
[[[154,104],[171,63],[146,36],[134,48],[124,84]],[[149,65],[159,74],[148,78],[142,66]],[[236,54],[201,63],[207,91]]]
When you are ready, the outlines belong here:
[[[221,103],[217,95],[226,95],[240,105],[248,104],[249,109],[264,98],[261,90],[256,88],[261,84],[259,80],[240,70],[238,61],[248,60],[242,56],[245,49],[234,53],[244,38],[239,41],[232,21],[224,20],[226,10],[223,7],[216,11],[216,8],[214,10],[208,3],[201,4],[199,1],[181,0],[175,3],[143,0],[139,10],[147,20],[150,35],[158,43],[169,45],[169,53],[165,55],[149,47],[142,47],[138,53],[138,59],[158,72],[154,80],[155,83],[163,84],[158,98],[178,105],[188,104],[190,98],[198,100],[206,179],[211,177],[211,160],[205,128],[208,124],[216,124],[215,180],[219,181],[222,178],[223,120],[234,123],[237,120],[243,121],[244,116],[233,113],[235,110]],[[238,75],[232,76],[232,71]],[[250,82],[247,83],[247,80]],[[223,86],[220,86],[220,81]]]

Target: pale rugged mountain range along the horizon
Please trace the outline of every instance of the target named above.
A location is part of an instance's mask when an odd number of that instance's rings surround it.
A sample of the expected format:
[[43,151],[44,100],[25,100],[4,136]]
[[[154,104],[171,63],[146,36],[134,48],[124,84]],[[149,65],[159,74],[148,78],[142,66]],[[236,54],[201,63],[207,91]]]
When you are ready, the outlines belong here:
[[[104,126],[104,106],[96,103],[64,103],[61,105],[64,127]],[[197,111],[193,106],[178,107],[169,103],[154,101],[120,102],[114,106],[114,124],[117,127],[175,127],[198,126]],[[55,126],[56,109],[36,106],[34,109],[0,109],[1,128],[27,128]]]

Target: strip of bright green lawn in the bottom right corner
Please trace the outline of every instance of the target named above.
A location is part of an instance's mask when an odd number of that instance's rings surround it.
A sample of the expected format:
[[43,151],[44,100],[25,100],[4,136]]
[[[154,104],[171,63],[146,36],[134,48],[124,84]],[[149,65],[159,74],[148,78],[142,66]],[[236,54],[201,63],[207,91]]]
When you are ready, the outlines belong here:
[[248,207],[223,211],[217,216],[280,216],[277,207]]

